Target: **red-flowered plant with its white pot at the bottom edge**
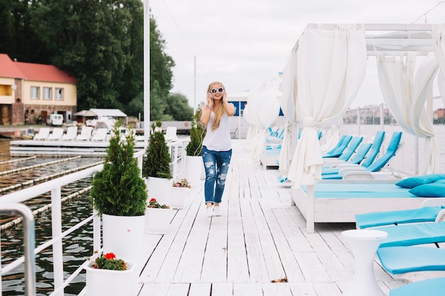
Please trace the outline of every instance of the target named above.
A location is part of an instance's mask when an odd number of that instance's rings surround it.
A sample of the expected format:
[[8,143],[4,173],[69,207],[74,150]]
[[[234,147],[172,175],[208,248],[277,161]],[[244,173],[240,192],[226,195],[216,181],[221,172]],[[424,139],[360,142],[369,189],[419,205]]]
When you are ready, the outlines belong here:
[[134,264],[117,259],[112,252],[102,254],[85,266],[87,295],[134,295],[137,274]]

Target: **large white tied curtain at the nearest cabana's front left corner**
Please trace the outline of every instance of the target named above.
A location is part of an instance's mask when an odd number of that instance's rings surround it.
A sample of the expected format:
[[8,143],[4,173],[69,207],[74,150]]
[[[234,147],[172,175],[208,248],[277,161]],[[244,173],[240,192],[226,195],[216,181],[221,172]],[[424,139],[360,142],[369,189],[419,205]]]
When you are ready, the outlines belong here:
[[317,128],[340,118],[350,106],[366,72],[365,32],[353,26],[334,30],[306,28],[296,53],[296,108],[304,129],[297,142],[288,179],[299,188],[321,180]]

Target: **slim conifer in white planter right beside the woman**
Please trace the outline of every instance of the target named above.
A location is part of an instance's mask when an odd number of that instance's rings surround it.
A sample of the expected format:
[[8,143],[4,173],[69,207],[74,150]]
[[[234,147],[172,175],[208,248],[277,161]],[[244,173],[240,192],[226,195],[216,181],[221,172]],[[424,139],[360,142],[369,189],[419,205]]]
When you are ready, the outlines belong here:
[[191,185],[199,185],[201,171],[203,169],[203,139],[205,137],[205,126],[201,124],[203,104],[199,104],[192,118],[190,129],[190,142],[186,146],[187,177]]

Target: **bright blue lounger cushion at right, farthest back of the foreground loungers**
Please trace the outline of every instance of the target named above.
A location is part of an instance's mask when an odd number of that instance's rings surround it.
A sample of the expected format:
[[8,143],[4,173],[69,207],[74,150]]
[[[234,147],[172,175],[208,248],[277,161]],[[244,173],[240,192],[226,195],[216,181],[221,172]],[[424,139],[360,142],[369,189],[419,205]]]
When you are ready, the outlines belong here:
[[357,228],[365,229],[391,224],[434,222],[437,214],[444,208],[445,207],[420,207],[419,209],[356,214],[355,224]]

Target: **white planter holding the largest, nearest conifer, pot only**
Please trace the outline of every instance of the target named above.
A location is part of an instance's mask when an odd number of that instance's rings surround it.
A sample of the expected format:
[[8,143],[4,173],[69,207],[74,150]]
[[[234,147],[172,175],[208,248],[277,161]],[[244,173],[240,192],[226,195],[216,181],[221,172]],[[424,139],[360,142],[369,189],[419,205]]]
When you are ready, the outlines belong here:
[[103,253],[114,253],[123,261],[139,264],[144,238],[145,216],[102,214]]

